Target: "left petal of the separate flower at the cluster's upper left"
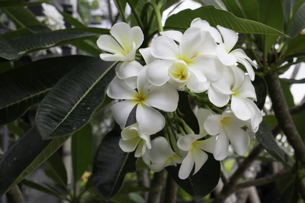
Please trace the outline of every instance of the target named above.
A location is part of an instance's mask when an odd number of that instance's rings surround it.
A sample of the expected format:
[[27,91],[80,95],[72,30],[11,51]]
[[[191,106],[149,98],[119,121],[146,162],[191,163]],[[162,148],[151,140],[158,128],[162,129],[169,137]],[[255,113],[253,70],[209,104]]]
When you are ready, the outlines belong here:
[[97,45],[100,49],[113,54],[126,54],[126,52],[121,48],[121,46],[109,35],[100,36],[97,41]]

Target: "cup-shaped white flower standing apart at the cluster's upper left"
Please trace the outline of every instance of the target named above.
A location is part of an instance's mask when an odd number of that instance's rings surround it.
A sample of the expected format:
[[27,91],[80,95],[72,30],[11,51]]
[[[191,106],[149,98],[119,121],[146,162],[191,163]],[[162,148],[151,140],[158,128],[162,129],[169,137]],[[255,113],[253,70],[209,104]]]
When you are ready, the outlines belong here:
[[109,35],[102,35],[97,41],[100,49],[109,53],[102,53],[100,57],[106,61],[133,61],[136,50],[142,45],[144,36],[140,27],[130,27],[125,22],[112,26]]

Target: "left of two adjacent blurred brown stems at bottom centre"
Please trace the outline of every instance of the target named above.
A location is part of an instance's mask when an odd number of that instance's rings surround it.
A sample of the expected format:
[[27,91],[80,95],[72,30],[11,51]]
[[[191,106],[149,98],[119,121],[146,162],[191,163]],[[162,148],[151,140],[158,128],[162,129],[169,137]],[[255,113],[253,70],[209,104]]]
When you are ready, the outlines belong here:
[[150,188],[153,192],[149,193],[147,203],[159,203],[162,195],[162,190],[165,184],[166,171],[155,173],[154,179],[151,182]]

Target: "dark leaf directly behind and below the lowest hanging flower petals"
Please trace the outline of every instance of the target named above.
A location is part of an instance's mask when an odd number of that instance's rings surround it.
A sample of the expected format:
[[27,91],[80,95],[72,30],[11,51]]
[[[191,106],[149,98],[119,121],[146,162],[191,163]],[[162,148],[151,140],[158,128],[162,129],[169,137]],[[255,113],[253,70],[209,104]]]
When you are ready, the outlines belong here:
[[174,181],[196,200],[203,198],[213,191],[220,178],[220,162],[215,160],[212,154],[207,154],[208,159],[200,170],[185,180],[178,177],[180,164],[177,167],[166,167],[166,171]]

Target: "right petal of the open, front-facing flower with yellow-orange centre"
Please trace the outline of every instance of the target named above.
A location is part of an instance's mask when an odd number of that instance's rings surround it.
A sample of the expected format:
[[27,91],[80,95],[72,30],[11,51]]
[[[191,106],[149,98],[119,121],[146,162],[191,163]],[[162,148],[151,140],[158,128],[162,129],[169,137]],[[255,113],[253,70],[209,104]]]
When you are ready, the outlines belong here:
[[173,112],[177,109],[179,100],[178,92],[174,87],[168,84],[150,90],[146,94],[146,97],[144,103],[148,106],[155,107],[165,112]]

